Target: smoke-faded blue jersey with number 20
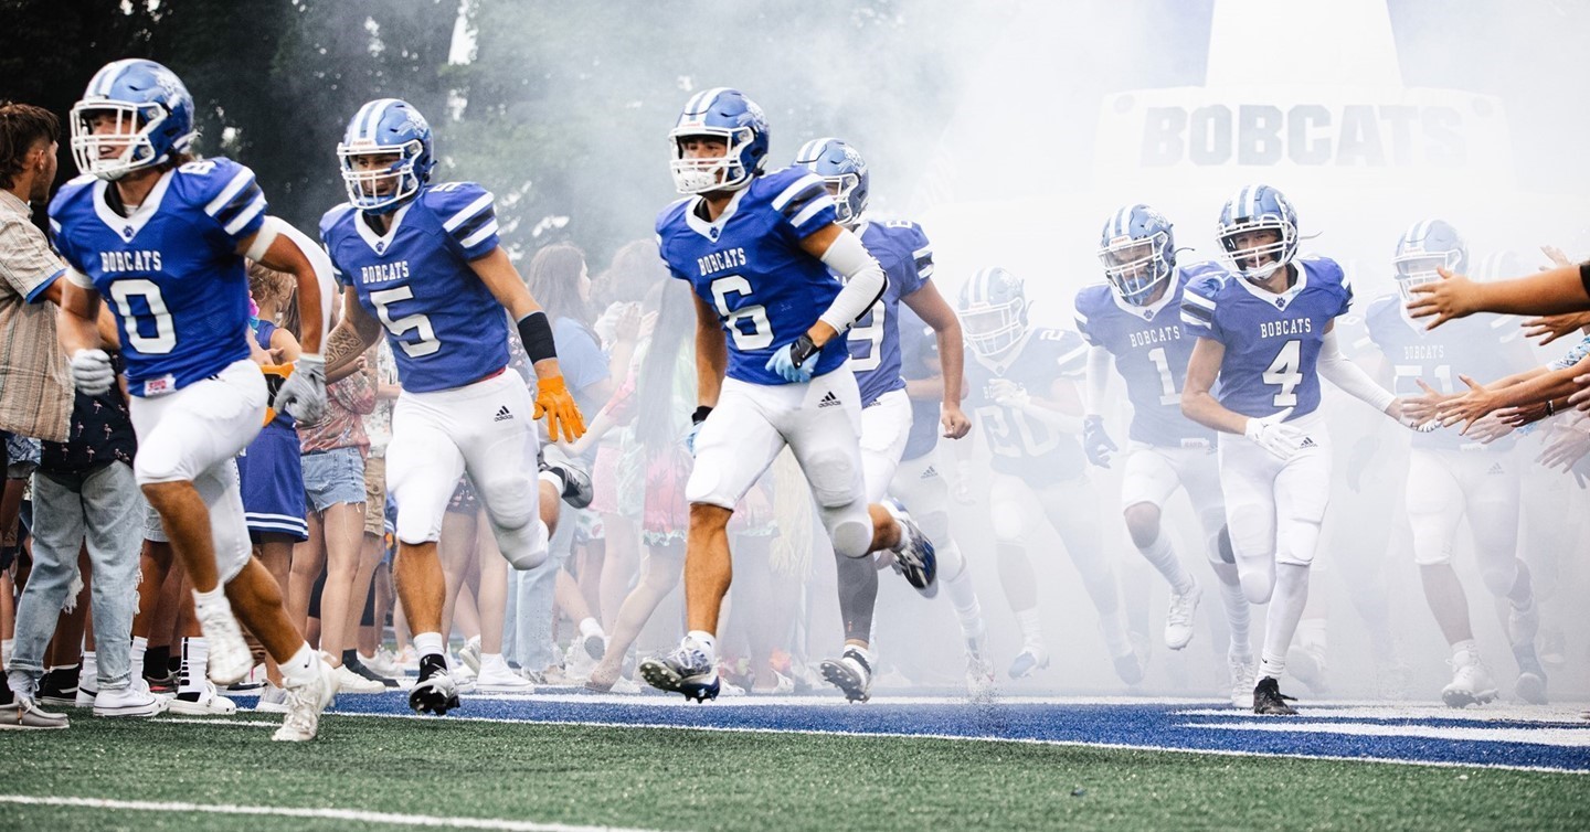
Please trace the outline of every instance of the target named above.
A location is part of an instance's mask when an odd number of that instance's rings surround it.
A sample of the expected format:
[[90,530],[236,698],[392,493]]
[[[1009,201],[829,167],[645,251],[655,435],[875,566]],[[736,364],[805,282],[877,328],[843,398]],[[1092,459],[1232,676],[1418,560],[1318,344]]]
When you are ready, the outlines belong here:
[[994,400],[994,379],[1013,381],[1048,399],[1059,378],[1081,379],[1088,345],[1075,332],[1035,327],[997,362],[967,351],[967,389],[973,419],[987,438],[994,470],[1045,486],[1083,473],[1088,459],[1072,433]]

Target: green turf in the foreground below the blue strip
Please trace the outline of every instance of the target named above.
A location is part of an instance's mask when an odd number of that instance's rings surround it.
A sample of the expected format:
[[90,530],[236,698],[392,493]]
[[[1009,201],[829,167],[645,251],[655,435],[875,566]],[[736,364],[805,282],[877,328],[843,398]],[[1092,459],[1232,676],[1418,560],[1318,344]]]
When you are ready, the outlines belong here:
[[[1582,775],[677,729],[78,718],[0,734],[0,792],[649,829],[1590,829]],[[1073,794],[1078,792],[1080,794]],[[0,805],[6,829],[347,829]]]

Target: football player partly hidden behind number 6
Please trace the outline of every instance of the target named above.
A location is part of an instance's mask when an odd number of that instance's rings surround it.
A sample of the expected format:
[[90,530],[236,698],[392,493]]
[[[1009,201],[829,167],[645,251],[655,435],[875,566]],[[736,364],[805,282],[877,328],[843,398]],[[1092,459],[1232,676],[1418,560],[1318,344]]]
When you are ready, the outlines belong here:
[[[865,216],[871,192],[867,160],[851,144],[838,138],[814,138],[795,154],[795,165],[811,170],[833,197],[835,219],[862,238],[867,252],[889,278],[884,294],[849,332],[851,370],[862,392],[862,481],[867,502],[879,503],[889,494],[900,456],[911,438],[913,406],[902,376],[900,305],[919,316],[935,333],[941,360],[938,424],[944,437],[962,438],[971,422],[960,411],[962,338],[960,321],[932,283],[933,249],[916,222],[874,222]],[[911,503],[905,503],[911,505]],[[925,521],[921,511],[916,516]],[[948,519],[948,518],[946,518]],[[943,540],[944,529],[932,540]],[[976,605],[971,576],[965,570],[959,546],[935,546],[938,580],[949,583],[957,608]],[[873,630],[873,607],[878,602],[878,572],[865,559],[835,556],[840,570],[840,618],[844,624],[844,648],[838,659],[822,662],[822,676],[844,691],[851,702],[865,702],[873,683],[874,657],[868,651]],[[900,562],[894,562],[900,568]],[[981,618],[981,616],[979,616]],[[979,638],[968,641],[973,672],[986,676]]]

